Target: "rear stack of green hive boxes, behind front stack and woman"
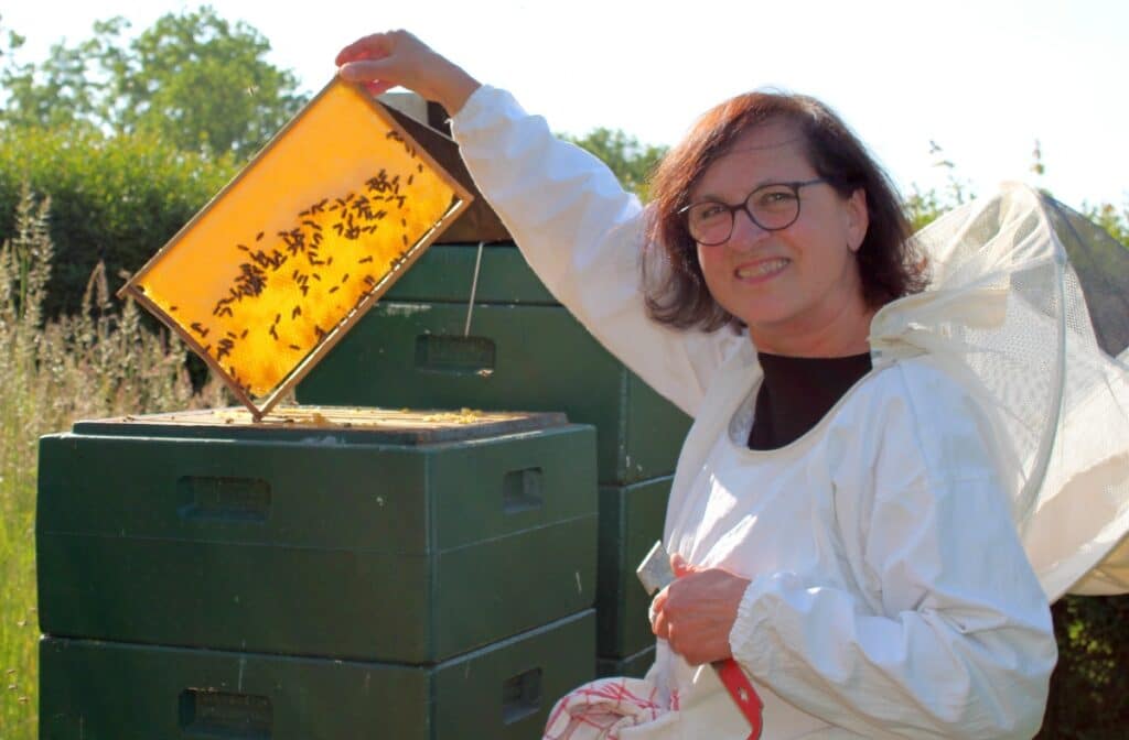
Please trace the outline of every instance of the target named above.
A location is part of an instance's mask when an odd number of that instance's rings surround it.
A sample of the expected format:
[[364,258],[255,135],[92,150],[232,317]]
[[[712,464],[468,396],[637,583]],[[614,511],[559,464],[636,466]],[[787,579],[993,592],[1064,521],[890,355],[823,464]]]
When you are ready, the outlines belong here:
[[597,655],[640,675],[654,638],[634,569],[662,536],[690,420],[609,354],[513,244],[431,247],[298,387],[312,404],[563,411],[597,429]]

